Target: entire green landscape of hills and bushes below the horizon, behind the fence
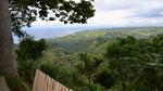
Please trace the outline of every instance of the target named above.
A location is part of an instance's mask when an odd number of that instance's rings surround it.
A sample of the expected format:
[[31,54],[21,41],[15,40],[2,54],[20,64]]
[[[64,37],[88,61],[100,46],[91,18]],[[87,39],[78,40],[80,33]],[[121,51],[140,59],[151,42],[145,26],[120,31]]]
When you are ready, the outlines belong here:
[[[34,49],[41,49],[41,58],[17,55],[21,76],[30,84],[40,68],[74,91],[162,91],[162,34],[161,27],[82,31],[48,39],[47,50],[40,40]],[[20,43],[17,53],[30,52],[23,50],[27,44]]]

